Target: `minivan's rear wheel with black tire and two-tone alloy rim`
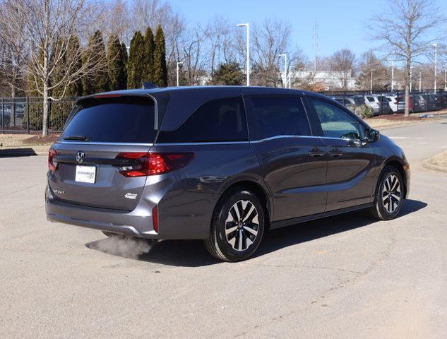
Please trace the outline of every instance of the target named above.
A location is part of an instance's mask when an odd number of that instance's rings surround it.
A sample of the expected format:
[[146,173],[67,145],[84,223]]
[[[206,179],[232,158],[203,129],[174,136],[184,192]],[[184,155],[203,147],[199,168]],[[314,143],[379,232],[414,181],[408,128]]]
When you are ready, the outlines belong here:
[[[254,210],[251,210],[251,206]],[[236,220],[238,215],[236,209],[244,213],[240,215],[239,220]],[[212,256],[222,261],[242,261],[249,258],[261,244],[265,228],[264,215],[265,210],[258,196],[246,189],[233,189],[222,196],[217,203],[211,222],[210,237],[205,240],[206,249]],[[228,221],[231,218],[233,220]],[[226,233],[235,227],[237,228],[234,231]]]

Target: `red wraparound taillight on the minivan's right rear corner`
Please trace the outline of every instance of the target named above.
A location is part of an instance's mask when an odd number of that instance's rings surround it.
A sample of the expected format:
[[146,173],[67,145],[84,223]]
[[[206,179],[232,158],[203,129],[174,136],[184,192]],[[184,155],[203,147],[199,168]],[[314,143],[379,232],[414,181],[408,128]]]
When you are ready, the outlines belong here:
[[124,177],[163,174],[188,165],[194,153],[119,153],[117,159],[129,160],[118,166]]

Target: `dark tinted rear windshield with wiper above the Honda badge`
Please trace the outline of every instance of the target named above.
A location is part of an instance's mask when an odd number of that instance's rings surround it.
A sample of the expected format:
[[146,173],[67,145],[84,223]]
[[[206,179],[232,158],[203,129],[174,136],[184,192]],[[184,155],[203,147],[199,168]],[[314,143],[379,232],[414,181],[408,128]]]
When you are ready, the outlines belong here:
[[153,143],[153,100],[137,97],[88,100],[66,126],[61,138],[85,136],[106,143]]

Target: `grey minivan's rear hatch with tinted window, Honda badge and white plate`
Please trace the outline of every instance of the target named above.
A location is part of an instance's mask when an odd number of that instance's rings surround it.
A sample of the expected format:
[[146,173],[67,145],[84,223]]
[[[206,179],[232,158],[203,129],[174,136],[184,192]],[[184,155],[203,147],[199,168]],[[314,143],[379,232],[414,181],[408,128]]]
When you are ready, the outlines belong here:
[[133,210],[146,182],[141,159],[156,136],[150,97],[100,96],[78,102],[49,153],[57,200]]

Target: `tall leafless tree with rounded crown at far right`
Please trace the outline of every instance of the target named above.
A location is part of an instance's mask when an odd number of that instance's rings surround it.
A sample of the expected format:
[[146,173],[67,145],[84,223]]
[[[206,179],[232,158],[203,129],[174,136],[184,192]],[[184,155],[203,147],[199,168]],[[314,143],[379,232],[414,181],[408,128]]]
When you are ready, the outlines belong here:
[[405,64],[405,117],[410,114],[410,74],[415,59],[427,54],[439,36],[445,16],[432,0],[389,0],[392,16],[377,13],[371,24],[376,40],[390,57]]

